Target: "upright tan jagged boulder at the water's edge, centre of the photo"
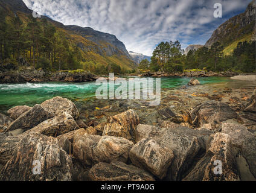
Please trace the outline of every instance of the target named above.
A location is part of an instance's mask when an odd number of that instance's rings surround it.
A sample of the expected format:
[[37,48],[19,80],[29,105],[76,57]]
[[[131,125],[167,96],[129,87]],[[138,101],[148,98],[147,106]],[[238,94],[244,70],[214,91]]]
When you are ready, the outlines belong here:
[[115,116],[110,116],[102,135],[117,136],[134,141],[135,128],[139,124],[139,116],[133,110],[127,110]]

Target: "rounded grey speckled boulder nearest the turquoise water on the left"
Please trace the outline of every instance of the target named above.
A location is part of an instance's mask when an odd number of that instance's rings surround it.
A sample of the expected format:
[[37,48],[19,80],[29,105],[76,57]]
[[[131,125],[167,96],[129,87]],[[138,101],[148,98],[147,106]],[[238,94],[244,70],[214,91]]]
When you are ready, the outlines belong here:
[[42,107],[54,114],[54,116],[62,115],[63,112],[69,113],[75,120],[78,119],[79,112],[75,104],[66,98],[56,96],[50,100],[44,101]]

